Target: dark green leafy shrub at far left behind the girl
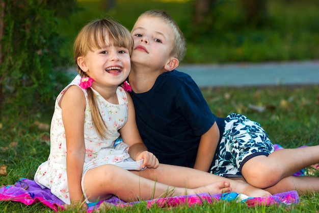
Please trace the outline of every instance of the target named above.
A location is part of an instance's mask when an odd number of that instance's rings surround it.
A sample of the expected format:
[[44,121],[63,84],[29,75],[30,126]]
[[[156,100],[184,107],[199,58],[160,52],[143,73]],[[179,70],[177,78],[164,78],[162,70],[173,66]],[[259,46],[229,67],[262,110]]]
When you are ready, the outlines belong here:
[[[0,110],[2,123],[46,114],[69,81],[69,55],[59,21],[74,11],[76,1],[0,0]],[[33,118],[35,119],[35,118]],[[8,126],[7,126],[8,125]]]

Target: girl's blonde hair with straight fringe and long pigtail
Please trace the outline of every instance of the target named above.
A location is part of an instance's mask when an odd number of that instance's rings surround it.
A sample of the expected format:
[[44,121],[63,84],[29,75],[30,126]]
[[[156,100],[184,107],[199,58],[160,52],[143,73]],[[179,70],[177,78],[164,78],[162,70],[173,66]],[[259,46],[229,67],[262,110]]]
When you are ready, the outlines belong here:
[[[105,42],[108,38],[109,43]],[[130,32],[120,23],[109,18],[97,19],[89,22],[77,35],[73,46],[73,58],[76,70],[81,77],[89,77],[77,64],[77,58],[85,57],[89,51],[101,49],[104,46],[119,46],[127,48],[131,56],[134,41]],[[91,88],[87,88],[89,104],[91,108],[92,121],[100,138],[107,137],[107,126],[105,125],[96,104],[96,94]]]

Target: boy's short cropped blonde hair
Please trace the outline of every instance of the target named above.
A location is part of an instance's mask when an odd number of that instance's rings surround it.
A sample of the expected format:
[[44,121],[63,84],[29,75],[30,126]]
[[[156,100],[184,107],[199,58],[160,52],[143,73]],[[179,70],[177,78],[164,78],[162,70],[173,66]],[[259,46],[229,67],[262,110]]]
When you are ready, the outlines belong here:
[[158,17],[164,20],[170,26],[175,34],[175,41],[171,51],[171,56],[177,58],[179,61],[183,60],[186,53],[186,40],[183,33],[179,29],[175,20],[163,10],[148,10],[142,13],[138,19],[144,17]]

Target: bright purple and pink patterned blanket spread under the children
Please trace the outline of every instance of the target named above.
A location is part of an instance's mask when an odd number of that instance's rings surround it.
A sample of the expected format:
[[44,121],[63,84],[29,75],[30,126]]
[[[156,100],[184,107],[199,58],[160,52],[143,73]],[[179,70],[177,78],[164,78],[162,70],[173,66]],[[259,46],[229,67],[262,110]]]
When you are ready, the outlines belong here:
[[[177,205],[188,204],[201,205],[203,202],[213,203],[219,200],[230,201],[234,199],[240,199],[241,202],[245,202],[248,206],[256,205],[273,205],[284,204],[289,205],[299,202],[299,196],[296,191],[290,191],[286,193],[275,194],[270,197],[264,198],[251,198],[237,193],[225,193],[225,194],[199,194],[190,196],[176,196],[169,198],[159,198],[146,201],[147,207],[156,204],[159,207],[174,207]],[[56,196],[52,195],[50,190],[42,189],[35,181],[22,178],[18,180],[14,185],[2,186],[0,188],[0,201],[16,201],[25,205],[32,205],[38,202],[46,205],[47,207],[58,211],[59,208],[63,209],[63,202]],[[125,206],[134,205],[138,202],[126,203],[120,199],[113,197],[109,200],[91,203],[88,208],[88,212],[92,212],[94,209],[105,206],[116,206],[123,208]]]

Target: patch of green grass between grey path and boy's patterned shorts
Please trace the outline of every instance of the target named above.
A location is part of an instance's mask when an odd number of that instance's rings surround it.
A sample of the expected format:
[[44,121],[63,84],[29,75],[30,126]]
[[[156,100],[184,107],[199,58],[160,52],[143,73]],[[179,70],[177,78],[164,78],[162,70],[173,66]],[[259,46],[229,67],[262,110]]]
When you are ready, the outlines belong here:
[[[221,87],[203,91],[215,114],[237,112],[259,122],[275,144],[319,144],[319,87]],[[264,107],[257,112],[249,105]]]

